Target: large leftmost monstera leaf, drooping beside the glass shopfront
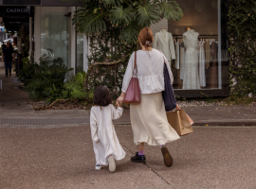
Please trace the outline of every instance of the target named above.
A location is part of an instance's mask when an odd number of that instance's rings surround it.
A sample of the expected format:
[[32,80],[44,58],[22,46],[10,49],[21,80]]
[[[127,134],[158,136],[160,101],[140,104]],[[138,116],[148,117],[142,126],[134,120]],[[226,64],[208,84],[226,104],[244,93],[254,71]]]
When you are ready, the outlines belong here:
[[103,16],[107,10],[102,10],[94,13],[92,10],[86,11],[85,9],[78,9],[73,18],[73,25],[76,24],[76,30],[92,34],[106,30],[106,24]]

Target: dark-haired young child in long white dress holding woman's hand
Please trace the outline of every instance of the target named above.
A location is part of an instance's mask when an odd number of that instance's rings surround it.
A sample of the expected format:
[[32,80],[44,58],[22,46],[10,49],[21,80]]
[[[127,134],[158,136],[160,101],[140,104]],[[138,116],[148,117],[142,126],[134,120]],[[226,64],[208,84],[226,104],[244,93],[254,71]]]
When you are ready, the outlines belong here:
[[122,108],[116,109],[112,105],[112,99],[108,88],[99,86],[94,94],[94,107],[91,109],[90,127],[93,148],[96,158],[96,170],[101,170],[101,164],[109,164],[109,171],[116,170],[115,160],[121,160],[125,152],[119,144],[112,120],[119,119]]

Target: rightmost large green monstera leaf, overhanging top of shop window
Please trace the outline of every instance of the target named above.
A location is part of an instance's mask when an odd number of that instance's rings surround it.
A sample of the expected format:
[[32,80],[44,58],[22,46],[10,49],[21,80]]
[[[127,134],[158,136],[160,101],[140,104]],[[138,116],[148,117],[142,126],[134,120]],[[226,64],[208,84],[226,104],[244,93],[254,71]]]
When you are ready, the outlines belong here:
[[165,0],[159,5],[163,16],[168,20],[178,21],[183,16],[183,11],[175,1]]

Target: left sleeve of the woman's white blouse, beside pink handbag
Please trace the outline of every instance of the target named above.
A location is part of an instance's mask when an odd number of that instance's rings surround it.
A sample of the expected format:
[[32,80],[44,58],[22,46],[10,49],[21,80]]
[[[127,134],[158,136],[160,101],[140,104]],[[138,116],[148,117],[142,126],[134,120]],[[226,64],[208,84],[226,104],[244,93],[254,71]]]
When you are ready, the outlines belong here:
[[122,80],[121,91],[123,93],[126,93],[128,87],[129,87],[130,81],[134,75],[134,64],[135,64],[135,52],[133,52],[132,56],[130,57],[130,60],[128,62],[128,65],[127,65],[127,68],[126,68],[126,71],[125,71],[125,74],[124,74],[124,77]]

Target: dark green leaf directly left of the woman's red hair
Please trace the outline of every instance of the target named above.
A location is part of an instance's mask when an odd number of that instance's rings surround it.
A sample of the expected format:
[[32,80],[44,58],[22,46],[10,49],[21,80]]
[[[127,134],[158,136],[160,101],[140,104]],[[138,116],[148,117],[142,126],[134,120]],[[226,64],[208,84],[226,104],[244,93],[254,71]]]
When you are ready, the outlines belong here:
[[137,43],[139,28],[136,22],[132,22],[120,32],[120,40],[127,43]]

